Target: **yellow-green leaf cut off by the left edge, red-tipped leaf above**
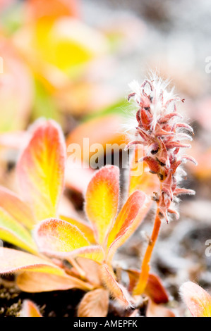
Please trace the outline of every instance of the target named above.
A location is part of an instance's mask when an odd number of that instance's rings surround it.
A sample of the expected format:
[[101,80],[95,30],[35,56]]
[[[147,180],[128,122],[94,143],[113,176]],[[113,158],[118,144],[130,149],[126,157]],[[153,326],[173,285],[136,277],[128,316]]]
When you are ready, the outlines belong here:
[[2,208],[0,208],[0,239],[30,251],[30,253],[36,254],[37,252],[37,246],[30,232]]

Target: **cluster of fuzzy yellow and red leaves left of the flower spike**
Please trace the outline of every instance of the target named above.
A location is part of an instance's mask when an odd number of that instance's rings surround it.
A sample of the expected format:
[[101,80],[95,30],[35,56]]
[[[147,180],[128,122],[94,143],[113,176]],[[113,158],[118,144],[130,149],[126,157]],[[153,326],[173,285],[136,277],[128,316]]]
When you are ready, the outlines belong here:
[[[95,173],[85,194],[89,221],[61,216],[64,136],[52,120],[35,123],[30,135],[16,167],[19,195],[0,187],[0,238],[29,253],[1,247],[0,274],[16,273],[17,285],[25,292],[73,287],[87,291],[79,316],[107,316],[109,296],[131,306],[132,293],[116,280],[112,260],[150,208],[139,190],[141,180],[134,183],[130,177],[128,199],[119,210],[119,168],[107,165]],[[147,176],[142,174],[143,182]],[[156,187],[155,182],[145,189],[150,194]],[[131,284],[134,277],[131,271]],[[157,282],[149,278],[149,295]],[[165,292],[163,296],[166,301]]]

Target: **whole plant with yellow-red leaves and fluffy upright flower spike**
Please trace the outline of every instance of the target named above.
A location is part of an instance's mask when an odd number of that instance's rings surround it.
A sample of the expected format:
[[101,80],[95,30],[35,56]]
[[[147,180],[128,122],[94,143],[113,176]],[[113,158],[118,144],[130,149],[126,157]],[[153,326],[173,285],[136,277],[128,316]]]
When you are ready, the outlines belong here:
[[[0,187],[0,238],[29,252],[0,248],[0,274],[16,273],[17,285],[25,292],[83,289],[88,293],[80,302],[78,316],[107,316],[109,297],[123,308],[139,308],[142,294],[148,298],[147,316],[174,316],[158,306],[167,303],[168,295],[159,277],[150,274],[150,258],[162,218],[169,222],[169,213],[179,217],[171,207],[176,196],[194,193],[179,187],[181,163],[195,162],[180,154],[182,148],[190,146],[181,140],[191,139],[181,129],[191,134],[193,130],[176,120],[181,118],[175,106],[179,99],[160,81],[145,80],[129,99],[132,96],[139,108],[135,140],[128,147],[135,145],[135,153],[122,207],[119,168],[107,165],[95,172],[85,193],[88,220],[59,214],[66,147],[60,127],[52,120],[32,127],[16,170],[19,196]],[[143,171],[137,166],[140,174],[134,175],[140,146],[144,150],[139,160],[143,161]],[[121,268],[116,272],[114,254],[143,221],[153,192],[157,213],[141,270]],[[122,282],[121,273],[127,273],[128,282]],[[25,306],[28,312],[35,308],[30,303]]]

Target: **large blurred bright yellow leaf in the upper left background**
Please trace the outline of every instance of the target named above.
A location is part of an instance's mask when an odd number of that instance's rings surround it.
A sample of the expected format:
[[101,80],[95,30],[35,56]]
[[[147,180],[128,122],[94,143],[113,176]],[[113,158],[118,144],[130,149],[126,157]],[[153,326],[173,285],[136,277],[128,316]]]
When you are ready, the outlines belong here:
[[30,21],[16,32],[13,42],[35,74],[56,89],[80,73],[82,65],[108,51],[101,32],[68,16]]

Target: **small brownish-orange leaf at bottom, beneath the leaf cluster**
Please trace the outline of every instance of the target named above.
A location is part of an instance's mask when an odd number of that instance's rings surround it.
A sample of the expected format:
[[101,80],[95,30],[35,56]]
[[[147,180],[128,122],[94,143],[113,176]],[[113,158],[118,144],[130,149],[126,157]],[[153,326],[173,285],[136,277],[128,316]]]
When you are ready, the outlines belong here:
[[107,289],[95,289],[85,294],[78,306],[78,317],[106,317],[109,310]]

